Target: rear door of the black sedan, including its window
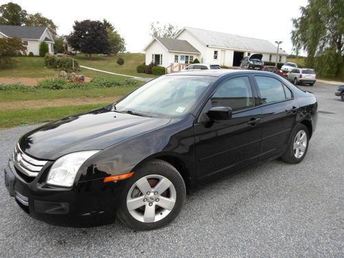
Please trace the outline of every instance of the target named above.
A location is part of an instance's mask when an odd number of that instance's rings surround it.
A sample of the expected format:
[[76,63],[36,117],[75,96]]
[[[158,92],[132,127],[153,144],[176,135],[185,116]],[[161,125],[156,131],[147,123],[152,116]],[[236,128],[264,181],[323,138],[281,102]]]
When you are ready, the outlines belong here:
[[261,160],[283,153],[294,127],[299,103],[275,77],[255,76],[262,113]]

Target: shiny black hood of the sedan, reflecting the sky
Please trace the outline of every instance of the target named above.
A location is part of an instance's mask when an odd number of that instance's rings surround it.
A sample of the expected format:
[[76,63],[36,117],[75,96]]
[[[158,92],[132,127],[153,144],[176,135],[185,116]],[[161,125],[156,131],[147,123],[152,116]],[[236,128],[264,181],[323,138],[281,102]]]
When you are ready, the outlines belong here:
[[19,146],[28,155],[56,160],[67,153],[105,149],[122,140],[169,123],[169,118],[148,118],[96,109],[69,116],[26,133]]

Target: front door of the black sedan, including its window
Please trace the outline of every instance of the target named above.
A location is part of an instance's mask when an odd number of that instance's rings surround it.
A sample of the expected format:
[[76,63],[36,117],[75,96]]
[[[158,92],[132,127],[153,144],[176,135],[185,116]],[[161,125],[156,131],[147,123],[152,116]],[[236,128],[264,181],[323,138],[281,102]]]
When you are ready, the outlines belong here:
[[230,107],[233,116],[229,120],[195,123],[200,183],[259,160],[261,109],[254,96],[248,76],[239,76],[221,83],[208,100],[201,116],[211,107]]

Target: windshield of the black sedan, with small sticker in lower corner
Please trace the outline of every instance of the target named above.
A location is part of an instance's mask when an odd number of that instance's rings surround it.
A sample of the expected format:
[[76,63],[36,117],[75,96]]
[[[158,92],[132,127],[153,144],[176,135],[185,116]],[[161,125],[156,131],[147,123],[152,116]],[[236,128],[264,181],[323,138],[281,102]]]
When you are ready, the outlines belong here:
[[118,100],[114,109],[140,116],[181,117],[215,80],[211,76],[162,76]]

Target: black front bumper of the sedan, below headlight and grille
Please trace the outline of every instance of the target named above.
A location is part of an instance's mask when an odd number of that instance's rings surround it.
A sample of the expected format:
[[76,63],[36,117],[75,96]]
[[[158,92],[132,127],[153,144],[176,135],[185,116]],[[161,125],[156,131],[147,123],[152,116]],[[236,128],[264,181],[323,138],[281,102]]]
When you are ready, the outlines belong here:
[[124,181],[103,183],[90,180],[72,188],[40,182],[43,171],[32,182],[25,182],[9,160],[4,169],[10,196],[35,219],[58,226],[98,226],[114,222],[118,197]]

